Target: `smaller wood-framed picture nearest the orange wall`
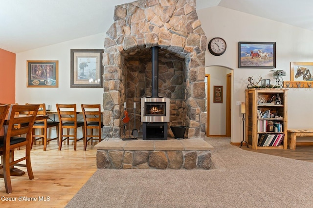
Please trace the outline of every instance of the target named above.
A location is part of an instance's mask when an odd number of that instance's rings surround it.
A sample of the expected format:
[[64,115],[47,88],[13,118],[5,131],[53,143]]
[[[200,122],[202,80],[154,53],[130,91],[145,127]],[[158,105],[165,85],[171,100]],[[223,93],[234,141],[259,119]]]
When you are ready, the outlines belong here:
[[59,61],[26,61],[27,87],[59,87]]

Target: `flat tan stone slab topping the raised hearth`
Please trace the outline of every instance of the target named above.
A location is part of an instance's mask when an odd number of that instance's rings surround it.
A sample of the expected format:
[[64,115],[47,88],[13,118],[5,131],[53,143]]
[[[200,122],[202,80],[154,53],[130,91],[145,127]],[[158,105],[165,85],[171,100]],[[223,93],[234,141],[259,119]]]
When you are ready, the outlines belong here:
[[167,140],[129,140],[110,139],[103,140],[93,148],[98,150],[142,150],[142,151],[206,151],[214,147],[201,138]]

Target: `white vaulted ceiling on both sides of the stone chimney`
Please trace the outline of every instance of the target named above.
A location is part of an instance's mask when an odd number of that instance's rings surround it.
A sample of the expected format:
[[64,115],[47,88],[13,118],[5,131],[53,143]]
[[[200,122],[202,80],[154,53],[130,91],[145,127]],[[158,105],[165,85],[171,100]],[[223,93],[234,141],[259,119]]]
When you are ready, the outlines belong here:
[[[1,0],[0,48],[19,53],[104,33],[114,6],[132,1]],[[313,30],[312,0],[197,0],[197,10],[212,6]]]

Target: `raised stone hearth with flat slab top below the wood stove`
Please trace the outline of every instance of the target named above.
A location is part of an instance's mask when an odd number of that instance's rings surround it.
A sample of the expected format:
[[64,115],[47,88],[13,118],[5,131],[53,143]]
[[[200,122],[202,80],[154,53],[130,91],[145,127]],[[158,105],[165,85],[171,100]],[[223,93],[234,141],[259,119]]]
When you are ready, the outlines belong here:
[[203,139],[102,141],[97,167],[112,169],[209,169],[213,146]]

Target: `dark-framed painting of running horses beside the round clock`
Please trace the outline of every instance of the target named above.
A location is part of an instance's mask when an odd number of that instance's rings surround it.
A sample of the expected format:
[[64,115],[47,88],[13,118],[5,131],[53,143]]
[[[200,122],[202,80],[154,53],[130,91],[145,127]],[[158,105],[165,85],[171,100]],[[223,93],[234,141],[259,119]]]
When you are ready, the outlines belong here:
[[238,68],[276,68],[276,42],[239,42]]

